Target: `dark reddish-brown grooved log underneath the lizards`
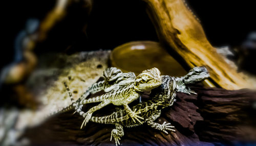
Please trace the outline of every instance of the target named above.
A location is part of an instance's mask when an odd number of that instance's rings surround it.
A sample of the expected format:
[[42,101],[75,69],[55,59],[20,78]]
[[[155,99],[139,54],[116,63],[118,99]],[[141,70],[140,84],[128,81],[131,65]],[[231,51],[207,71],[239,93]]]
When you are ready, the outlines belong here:
[[[156,120],[159,124],[164,121],[172,123],[176,132],[165,134],[146,125],[124,128],[121,144],[214,145],[210,142],[256,140],[255,114],[248,112],[252,101],[256,101],[253,92],[201,87],[195,90],[198,95],[178,93],[175,104],[164,109]],[[114,106],[107,106],[96,115],[109,114],[114,110]],[[110,141],[114,125],[89,122],[86,128],[80,130],[83,118],[72,113],[73,110],[53,116],[44,124],[27,130],[24,137],[29,138],[32,145],[114,145],[114,141]]]

